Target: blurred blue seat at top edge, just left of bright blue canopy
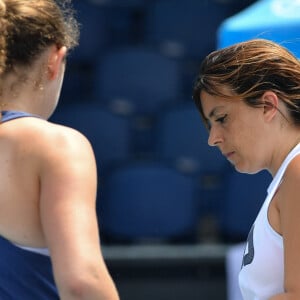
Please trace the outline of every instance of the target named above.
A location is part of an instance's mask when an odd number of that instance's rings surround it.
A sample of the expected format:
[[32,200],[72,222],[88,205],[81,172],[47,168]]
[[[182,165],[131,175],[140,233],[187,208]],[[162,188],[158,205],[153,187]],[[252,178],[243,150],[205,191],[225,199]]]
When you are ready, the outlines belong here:
[[172,57],[202,58],[216,46],[216,31],[230,15],[225,1],[159,0],[149,3],[145,42]]

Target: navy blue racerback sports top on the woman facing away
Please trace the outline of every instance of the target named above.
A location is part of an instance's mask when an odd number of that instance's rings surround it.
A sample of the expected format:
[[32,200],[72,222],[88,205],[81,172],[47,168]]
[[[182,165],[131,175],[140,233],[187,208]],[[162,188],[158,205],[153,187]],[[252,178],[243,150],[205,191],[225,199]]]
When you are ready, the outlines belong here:
[[[37,117],[3,111],[1,122]],[[59,300],[48,249],[21,247],[0,236],[0,299]]]

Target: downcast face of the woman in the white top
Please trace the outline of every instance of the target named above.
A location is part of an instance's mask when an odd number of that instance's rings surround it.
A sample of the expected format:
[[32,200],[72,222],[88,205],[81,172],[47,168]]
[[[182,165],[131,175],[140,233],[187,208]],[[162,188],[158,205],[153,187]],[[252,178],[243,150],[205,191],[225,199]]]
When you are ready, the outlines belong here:
[[[230,95],[230,93],[226,93]],[[243,100],[230,100],[201,92],[201,104],[209,125],[208,144],[217,146],[235,169],[256,173],[265,168],[263,108]]]

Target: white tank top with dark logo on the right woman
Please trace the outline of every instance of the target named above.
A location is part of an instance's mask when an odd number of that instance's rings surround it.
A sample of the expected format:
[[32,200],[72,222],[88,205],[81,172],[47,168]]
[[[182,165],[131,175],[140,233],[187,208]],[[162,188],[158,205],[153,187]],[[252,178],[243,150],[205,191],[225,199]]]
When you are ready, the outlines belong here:
[[267,300],[284,292],[283,239],[268,221],[268,207],[287,166],[299,154],[300,144],[288,154],[274,176],[265,202],[250,230],[239,273],[244,300]]

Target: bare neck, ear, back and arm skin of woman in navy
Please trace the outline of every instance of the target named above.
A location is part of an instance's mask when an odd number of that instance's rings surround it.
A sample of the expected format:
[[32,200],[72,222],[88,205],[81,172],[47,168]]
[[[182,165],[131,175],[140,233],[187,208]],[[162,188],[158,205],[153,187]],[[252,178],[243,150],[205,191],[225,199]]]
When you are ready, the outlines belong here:
[[60,299],[118,300],[100,249],[93,150],[79,132],[46,121],[57,105],[65,54],[65,47],[49,47],[16,90],[10,87],[17,77],[4,78],[2,109],[41,118],[0,126],[0,235],[49,248]]

